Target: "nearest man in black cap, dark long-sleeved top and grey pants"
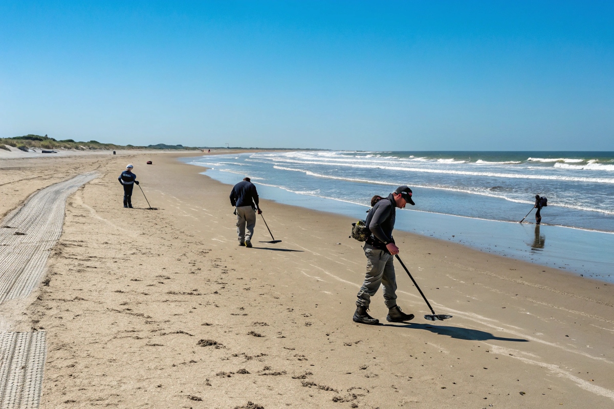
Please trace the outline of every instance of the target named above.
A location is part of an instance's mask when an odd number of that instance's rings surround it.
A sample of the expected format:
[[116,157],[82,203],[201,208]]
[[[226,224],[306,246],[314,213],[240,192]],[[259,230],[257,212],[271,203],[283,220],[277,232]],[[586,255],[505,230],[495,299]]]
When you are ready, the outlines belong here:
[[415,205],[408,186],[399,186],[386,198],[377,195],[371,198],[373,207],[365,220],[371,231],[364,247],[367,273],[357,294],[356,312],[352,318],[355,323],[379,324],[379,319],[373,318],[367,311],[371,297],[375,296],[380,284],[384,285],[384,304],[388,307],[386,321],[400,323],[414,318],[413,314],[403,313],[397,305],[397,278],[393,264],[394,254],[398,254],[398,247],[392,237],[396,208],[403,208],[407,203]]

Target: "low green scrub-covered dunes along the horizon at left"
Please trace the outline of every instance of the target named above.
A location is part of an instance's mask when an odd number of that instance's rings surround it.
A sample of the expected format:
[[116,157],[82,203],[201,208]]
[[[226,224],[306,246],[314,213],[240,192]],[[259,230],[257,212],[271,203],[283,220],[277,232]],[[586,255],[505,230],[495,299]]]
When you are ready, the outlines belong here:
[[184,147],[183,145],[166,145],[165,143],[158,143],[157,145],[149,145],[146,147],[139,147],[134,145],[115,145],[114,143],[101,143],[97,140],[90,140],[89,142],[79,142],[74,139],[61,139],[50,138],[47,135],[25,135],[16,136],[12,138],[0,138],[0,149],[9,150],[5,145],[18,148],[23,151],[28,151],[28,148],[39,149],[73,149],[73,150],[119,150],[119,149],[185,149],[194,150],[199,148]]

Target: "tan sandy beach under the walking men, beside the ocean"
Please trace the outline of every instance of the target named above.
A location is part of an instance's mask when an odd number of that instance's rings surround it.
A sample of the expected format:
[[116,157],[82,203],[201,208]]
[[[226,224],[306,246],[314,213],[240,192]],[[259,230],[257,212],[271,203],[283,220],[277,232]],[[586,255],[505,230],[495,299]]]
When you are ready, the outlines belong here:
[[[436,312],[454,318],[425,321],[397,264],[398,304],[416,318],[386,323],[380,291],[371,315],[386,324],[358,325],[352,220],[262,201],[282,243],[260,243],[258,219],[254,248],[238,247],[231,186],[177,156],[0,161],[2,214],[100,175],[69,197],[44,285],[11,324],[47,332],[42,407],[614,407],[612,286],[396,232]],[[138,208],[122,207],[128,159],[158,210],[138,188]]]

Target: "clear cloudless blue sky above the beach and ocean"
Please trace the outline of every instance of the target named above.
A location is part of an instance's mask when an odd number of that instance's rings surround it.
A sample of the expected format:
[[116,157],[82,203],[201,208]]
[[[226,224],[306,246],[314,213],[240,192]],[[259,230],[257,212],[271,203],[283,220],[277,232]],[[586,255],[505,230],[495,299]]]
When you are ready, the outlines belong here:
[[0,136],[614,150],[614,2],[2,1]]

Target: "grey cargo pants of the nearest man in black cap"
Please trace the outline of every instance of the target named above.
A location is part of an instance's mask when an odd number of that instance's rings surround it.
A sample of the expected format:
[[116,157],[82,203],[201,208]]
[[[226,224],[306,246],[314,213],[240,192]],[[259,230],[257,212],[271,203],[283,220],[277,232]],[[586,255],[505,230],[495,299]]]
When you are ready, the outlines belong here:
[[371,297],[375,296],[379,284],[384,285],[384,304],[392,308],[397,305],[397,278],[394,275],[394,256],[384,250],[377,250],[365,246],[367,256],[367,274],[362,283],[356,300],[357,307],[367,307],[371,303]]

